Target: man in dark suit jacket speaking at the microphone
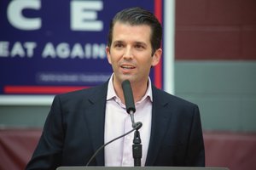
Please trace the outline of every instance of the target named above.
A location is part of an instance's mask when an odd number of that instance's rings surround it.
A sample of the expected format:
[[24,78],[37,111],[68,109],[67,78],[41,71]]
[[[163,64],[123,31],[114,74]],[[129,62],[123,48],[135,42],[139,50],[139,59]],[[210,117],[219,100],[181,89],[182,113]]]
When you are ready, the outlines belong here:
[[[160,61],[161,37],[159,21],[147,10],[125,8],[116,14],[106,48],[113,75],[95,88],[55,96],[26,169],[84,166],[102,144],[131,130],[121,87],[125,80],[131,82],[135,119],[143,122],[142,166],[205,166],[197,105],[155,88],[148,77]],[[131,145],[129,135],[114,141],[90,166],[133,166]]]

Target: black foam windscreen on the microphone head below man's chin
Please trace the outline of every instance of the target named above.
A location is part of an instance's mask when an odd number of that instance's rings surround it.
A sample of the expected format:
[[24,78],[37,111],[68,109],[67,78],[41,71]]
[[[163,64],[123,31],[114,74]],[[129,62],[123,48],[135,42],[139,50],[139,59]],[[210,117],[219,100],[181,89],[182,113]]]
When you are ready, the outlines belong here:
[[135,105],[133,100],[131,83],[129,82],[129,80],[125,80],[124,82],[122,82],[122,88],[125,96],[126,111],[129,114],[130,114],[130,111],[133,111],[134,113],[136,110],[135,110]]

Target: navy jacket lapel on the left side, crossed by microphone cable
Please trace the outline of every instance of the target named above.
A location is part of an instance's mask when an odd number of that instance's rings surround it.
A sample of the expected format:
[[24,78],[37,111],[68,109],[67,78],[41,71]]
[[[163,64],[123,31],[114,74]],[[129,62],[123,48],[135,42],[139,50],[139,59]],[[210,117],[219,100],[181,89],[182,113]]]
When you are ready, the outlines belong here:
[[[104,144],[104,124],[105,124],[105,106],[108,91],[108,82],[95,88],[93,94],[84,99],[85,107],[84,117],[90,130],[93,150],[96,150]],[[104,149],[96,155],[97,166],[104,166]]]

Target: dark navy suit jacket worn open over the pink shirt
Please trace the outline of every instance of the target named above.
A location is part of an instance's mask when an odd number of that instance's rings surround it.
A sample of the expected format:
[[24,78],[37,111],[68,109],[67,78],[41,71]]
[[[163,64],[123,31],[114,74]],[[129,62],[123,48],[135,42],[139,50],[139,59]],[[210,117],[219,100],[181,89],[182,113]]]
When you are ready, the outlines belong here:
[[[197,105],[154,86],[152,90],[152,129],[146,166],[205,166]],[[104,144],[107,91],[108,82],[95,88],[56,95],[26,169],[86,165],[90,156]],[[104,166],[104,150],[90,166]]]

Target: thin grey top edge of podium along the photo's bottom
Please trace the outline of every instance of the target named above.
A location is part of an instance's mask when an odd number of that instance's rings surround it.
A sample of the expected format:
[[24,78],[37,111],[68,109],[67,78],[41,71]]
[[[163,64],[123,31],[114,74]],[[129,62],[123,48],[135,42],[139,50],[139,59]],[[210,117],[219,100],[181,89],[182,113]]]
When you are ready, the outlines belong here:
[[58,167],[56,170],[229,170],[226,167]]

